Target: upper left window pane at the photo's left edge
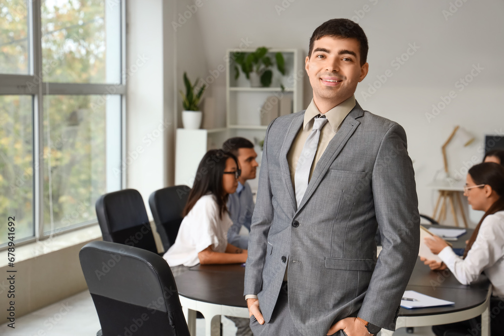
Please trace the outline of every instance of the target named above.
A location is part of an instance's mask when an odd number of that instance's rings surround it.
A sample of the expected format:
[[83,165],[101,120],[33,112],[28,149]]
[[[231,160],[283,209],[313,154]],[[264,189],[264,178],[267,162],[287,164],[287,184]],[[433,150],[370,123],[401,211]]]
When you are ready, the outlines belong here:
[[28,5],[26,0],[0,2],[0,74],[28,74]]

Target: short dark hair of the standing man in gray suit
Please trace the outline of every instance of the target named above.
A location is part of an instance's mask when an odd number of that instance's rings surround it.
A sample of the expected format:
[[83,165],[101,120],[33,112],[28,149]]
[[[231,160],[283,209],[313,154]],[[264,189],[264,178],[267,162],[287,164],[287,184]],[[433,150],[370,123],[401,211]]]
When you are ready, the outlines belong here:
[[367,37],[364,30],[355,22],[348,19],[332,19],[317,27],[310,38],[308,57],[311,57],[313,44],[324,36],[336,38],[354,38],[359,41],[360,66],[367,61]]

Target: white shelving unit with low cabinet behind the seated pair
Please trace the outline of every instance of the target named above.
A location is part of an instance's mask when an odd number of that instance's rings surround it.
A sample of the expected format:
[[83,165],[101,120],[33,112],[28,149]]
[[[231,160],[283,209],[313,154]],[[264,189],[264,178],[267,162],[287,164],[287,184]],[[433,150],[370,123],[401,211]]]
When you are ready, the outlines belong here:
[[[175,149],[175,184],[192,186],[198,164],[210,149],[220,148],[231,137],[243,137],[256,142],[257,161],[261,163],[259,142],[264,140],[268,125],[261,124],[261,109],[268,97],[289,97],[292,106],[290,113],[302,107],[302,84],[305,75],[304,58],[297,49],[270,49],[274,60],[275,53],[281,52],[285,59],[285,75],[273,66],[272,85],[269,88],[252,88],[243,73],[234,79],[234,52],[253,52],[255,50],[229,49],[226,73],[226,127],[216,129],[177,129]],[[241,70],[240,70],[241,72]],[[284,90],[281,86],[283,85]],[[271,99],[271,98],[270,98]],[[257,176],[259,176],[259,168]],[[257,178],[248,181],[251,189],[257,190]]]

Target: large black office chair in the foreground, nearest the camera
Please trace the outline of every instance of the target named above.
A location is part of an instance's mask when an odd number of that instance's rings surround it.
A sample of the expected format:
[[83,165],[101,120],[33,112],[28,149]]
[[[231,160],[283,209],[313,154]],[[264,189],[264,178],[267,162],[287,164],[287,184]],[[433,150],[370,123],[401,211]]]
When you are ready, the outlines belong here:
[[92,241],[79,259],[100,319],[97,336],[189,336],[175,280],[159,255]]

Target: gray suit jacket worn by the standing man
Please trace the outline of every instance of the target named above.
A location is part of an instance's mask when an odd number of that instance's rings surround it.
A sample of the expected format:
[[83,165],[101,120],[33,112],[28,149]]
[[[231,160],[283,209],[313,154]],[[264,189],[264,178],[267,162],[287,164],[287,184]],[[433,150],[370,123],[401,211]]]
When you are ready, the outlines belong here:
[[[287,153],[303,117],[279,117],[266,131],[244,294],[258,295],[269,322],[288,263],[289,308],[303,335],[325,335],[357,314],[394,330],[420,240],[406,133],[357,104],[296,209]],[[383,250],[376,259],[378,225]]]

